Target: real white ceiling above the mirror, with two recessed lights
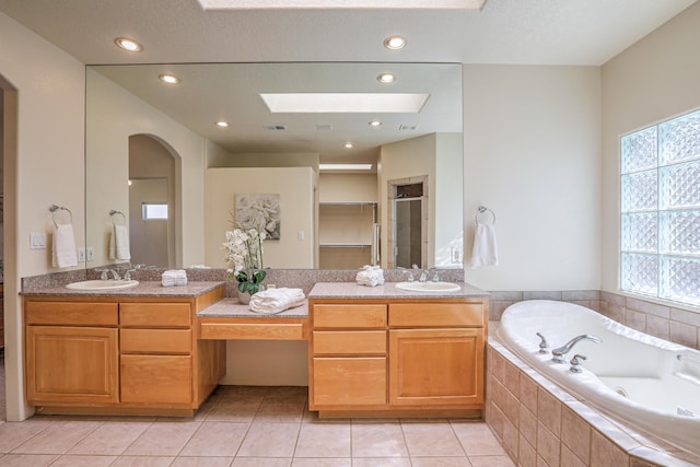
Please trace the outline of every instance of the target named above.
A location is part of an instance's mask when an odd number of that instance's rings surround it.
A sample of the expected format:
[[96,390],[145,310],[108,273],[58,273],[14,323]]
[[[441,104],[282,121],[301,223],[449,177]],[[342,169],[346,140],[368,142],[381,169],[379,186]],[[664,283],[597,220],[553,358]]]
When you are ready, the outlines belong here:
[[[378,0],[377,0],[378,2]],[[208,10],[197,0],[0,0],[83,63],[412,61],[598,66],[695,0],[488,0],[482,10]],[[392,52],[390,34],[408,38]],[[114,38],[145,49],[129,55]]]

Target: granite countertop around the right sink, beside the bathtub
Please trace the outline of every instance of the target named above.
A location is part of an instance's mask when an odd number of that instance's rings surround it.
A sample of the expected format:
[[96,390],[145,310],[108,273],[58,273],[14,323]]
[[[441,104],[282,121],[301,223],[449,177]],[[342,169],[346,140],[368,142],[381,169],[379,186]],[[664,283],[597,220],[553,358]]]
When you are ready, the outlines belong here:
[[354,282],[318,282],[308,293],[310,299],[471,299],[488,297],[489,293],[465,282],[456,282],[455,292],[413,292],[396,288],[396,282],[383,285],[359,285]]

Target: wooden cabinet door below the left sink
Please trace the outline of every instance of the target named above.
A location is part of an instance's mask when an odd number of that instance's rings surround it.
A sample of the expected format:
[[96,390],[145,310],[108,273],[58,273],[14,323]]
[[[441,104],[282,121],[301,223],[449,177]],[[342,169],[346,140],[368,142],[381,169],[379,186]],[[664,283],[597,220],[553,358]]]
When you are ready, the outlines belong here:
[[27,326],[27,402],[118,402],[117,336],[116,328]]

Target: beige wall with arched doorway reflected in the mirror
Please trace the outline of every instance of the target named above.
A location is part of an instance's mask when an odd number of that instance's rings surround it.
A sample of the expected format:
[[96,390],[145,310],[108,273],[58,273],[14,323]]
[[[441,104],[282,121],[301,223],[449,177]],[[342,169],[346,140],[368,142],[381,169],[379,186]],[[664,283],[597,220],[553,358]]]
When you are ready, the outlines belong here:
[[[194,133],[100,73],[88,70],[86,165],[88,245],[94,265],[107,259],[109,211],[128,213],[129,137],[147,135],[165,145],[175,159],[176,264],[201,265],[203,248],[205,139]],[[128,217],[128,214],[127,214]],[[186,226],[186,227],[183,227]]]

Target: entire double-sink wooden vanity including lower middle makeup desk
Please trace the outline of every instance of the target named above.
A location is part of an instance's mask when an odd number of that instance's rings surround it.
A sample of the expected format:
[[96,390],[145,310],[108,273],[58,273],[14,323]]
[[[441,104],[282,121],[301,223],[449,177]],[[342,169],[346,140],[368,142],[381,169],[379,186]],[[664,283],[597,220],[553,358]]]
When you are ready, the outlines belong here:
[[317,283],[256,315],[223,282],[23,293],[26,400],[43,413],[196,412],[225,374],[226,340],[308,341],[320,417],[481,417],[488,294]]

